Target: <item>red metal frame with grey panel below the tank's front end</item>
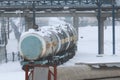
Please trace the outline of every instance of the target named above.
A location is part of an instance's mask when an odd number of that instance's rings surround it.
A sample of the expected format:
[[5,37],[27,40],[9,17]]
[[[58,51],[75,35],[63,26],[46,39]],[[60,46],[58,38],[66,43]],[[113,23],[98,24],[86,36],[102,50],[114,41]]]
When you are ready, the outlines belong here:
[[[44,72],[45,74],[47,73],[46,76],[44,75]],[[25,80],[43,80],[44,77],[45,80],[57,80],[57,66],[33,64],[25,65]]]

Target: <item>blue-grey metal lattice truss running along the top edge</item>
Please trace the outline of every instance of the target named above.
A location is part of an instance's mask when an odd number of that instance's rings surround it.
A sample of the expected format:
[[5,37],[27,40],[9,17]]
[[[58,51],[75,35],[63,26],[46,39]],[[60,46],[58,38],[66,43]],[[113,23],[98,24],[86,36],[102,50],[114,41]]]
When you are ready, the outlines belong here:
[[[100,0],[102,9],[111,9],[112,1],[115,0]],[[15,10],[33,10],[35,4],[36,11],[63,11],[64,9],[76,9],[78,11],[96,10],[98,9],[99,0],[0,0],[0,10],[15,11]],[[117,6],[119,8],[119,6]]]

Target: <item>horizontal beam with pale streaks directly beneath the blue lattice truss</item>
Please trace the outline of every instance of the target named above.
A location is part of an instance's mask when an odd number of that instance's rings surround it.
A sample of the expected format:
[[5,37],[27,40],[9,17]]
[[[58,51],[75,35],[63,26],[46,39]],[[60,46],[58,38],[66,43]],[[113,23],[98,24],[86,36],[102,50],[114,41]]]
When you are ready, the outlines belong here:
[[[1,14],[2,13],[2,14]],[[25,13],[24,11],[18,11],[18,12],[1,12],[0,16],[1,17],[25,17]],[[102,17],[111,17],[112,16],[112,11],[109,12],[101,12]],[[33,16],[33,12],[28,12],[29,16]],[[63,12],[45,12],[45,11],[41,11],[41,12],[36,12],[36,17],[73,17],[73,13],[70,11],[63,11]],[[76,11],[74,12],[74,14],[76,16],[79,17],[96,17],[97,16],[97,12],[95,11]],[[117,14],[117,13],[115,13]],[[20,16],[21,15],[21,16]],[[116,15],[117,17],[120,16],[120,14]]]

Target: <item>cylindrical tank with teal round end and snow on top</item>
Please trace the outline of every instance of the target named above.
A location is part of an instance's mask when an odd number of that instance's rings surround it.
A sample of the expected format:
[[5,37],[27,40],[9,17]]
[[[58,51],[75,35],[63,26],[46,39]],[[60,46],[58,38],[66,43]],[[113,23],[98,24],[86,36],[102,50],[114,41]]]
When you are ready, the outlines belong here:
[[30,29],[20,37],[19,51],[25,60],[38,60],[75,46],[76,30],[70,25],[44,26]]

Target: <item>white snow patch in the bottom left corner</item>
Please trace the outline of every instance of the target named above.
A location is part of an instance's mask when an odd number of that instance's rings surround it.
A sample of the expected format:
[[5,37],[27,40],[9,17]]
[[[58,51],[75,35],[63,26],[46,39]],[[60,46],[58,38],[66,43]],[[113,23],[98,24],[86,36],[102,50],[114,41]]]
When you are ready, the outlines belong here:
[[9,62],[0,65],[0,80],[25,80],[24,76],[19,62]]

